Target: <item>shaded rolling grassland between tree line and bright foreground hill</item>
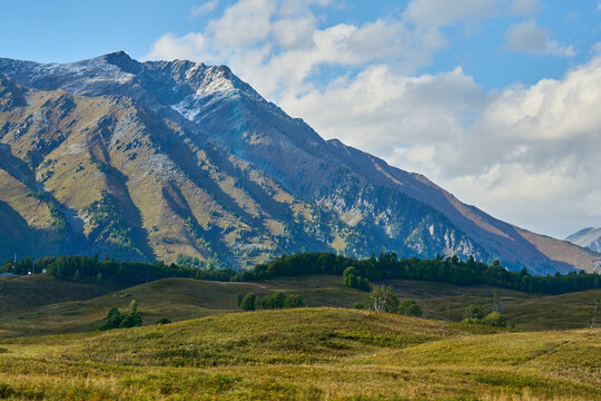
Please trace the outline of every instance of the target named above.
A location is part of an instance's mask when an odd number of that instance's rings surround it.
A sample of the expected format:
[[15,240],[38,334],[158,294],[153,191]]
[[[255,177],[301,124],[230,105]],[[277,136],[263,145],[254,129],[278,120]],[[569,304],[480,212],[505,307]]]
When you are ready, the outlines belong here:
[[[474,304],[483,310],[501,300],[515,330],[588,327],[601,290],[548,296],[486,285],[459,286],[435,282],[388,281],[401,297],[416,299],[424,317],[461,321]],[[266,296],[274,291],[303,296],[306,306],[352,307],[366,293],[342,285],[339,276],[311,275],[259,283],[165,278],[141,285],[72,282],[47,275],[0,278],[0,338],[96,331],[108,310],[127,310],[138,301],[145,325],[161,317],[174,322],[237,312],[237,294]],[[493,294],[496,292],[496,295]],[[601,320],[601,316],[598,317]]]

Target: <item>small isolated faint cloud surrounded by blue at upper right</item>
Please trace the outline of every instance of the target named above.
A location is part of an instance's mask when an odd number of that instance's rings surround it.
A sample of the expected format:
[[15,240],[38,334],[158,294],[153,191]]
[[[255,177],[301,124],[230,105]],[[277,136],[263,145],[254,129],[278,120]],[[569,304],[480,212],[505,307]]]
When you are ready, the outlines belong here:
[[549,29],[541,28],[534,20],[511,26],[505,32],[505,47],[511,51],[532,55],[568,56],[575,55],[572,46],[561,46],[549,38]]

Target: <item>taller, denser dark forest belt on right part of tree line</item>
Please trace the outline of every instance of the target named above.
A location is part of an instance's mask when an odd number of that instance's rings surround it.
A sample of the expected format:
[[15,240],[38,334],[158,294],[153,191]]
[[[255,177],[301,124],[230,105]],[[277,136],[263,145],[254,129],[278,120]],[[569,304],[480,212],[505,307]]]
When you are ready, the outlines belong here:
[[538,276],[524,267],[511,272],[495,261],[491,265],[470,256],[462,261],[457,256],[433,260],[397,257],[395,253],[382,253],[378,257],[355,260],[332,253],[303,253],[282,256],[267,264],[258,264],[253,270],[233,277],[234,281],[257,281],[304,274],[343,275],[353,267],[353,277],[370,281],[403,278],[434,281],[457,285],[489,284],[518,291],[543,294],[563,294],[575,291],[601,288],[601,275],[597,273],[571,272],[568,274]]

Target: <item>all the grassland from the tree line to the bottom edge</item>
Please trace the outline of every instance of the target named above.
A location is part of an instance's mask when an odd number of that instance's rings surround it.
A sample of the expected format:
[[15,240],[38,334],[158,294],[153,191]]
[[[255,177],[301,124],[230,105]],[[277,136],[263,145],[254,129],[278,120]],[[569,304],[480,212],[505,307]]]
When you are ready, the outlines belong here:
[[[587,329],[601,291],[378,284],[417,300],[424,319],[354,310],[365,293],[339,276],[131,287],[1,277],[0,399],[601,400],[601,330]],[[239,293],[274,291],[307,307],[237,311]],[[457,322],[493,297],[508,327]],[[98,331],[131,300],[145,326]]]

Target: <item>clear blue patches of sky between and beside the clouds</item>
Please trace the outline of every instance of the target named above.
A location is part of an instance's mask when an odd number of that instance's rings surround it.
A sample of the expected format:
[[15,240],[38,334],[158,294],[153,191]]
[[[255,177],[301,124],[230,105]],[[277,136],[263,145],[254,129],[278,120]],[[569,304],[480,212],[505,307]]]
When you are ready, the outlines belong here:
[[[0,25],[1,56],[41,62],[66,62],[125,50],[144,58],[165,32],[186,35],[199,30],[235,1],[218,1],[211,12],[193,16],[201,1],[4,1]],[[395,18],[408,1],[338,1],[318,10],[321,26],[362,23]],[[503,3],[503,2],[501,2]],[[505,1],[509,3],[509,1]],[[560,78],[568,68],[590,58],[600,40],[601,13],[597,0],[544,1],[536,21],[560,43],[573,46],[573,57],[538,57],[504,47],[506,29],[529,19],[512,16],[506,7],[484,21],[445,27],[450,46],[422,71],[436,72],[462,66],[486,89],[510,84],[534,84]]]

